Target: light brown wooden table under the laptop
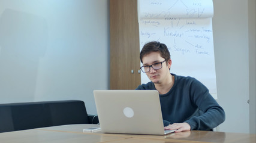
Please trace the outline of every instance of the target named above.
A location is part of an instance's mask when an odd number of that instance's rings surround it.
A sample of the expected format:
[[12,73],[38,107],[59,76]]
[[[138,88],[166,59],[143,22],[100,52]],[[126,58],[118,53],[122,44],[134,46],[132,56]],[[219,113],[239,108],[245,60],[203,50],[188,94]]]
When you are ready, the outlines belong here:
[[102,133],[101,131],[83,132],[83,129],[94,126],[98,125],[64,125],[5,132],[0,133],[0,142],[256,142],[256,134],[198,130],[170,133],[168,135],[131,135]]

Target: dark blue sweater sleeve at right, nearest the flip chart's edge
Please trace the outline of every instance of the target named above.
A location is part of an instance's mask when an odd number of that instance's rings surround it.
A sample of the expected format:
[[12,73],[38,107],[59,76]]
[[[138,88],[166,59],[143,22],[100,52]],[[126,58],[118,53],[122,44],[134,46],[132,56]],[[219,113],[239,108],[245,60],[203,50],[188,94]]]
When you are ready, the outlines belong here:
[[192,102],[203,112],[203,114],[192,116],[185,121],[191,126],[191,130],[210,130],[224,122],[225,112],[209,94],[206,86],[198,80],[194,80],[191,84],[190,94]]

